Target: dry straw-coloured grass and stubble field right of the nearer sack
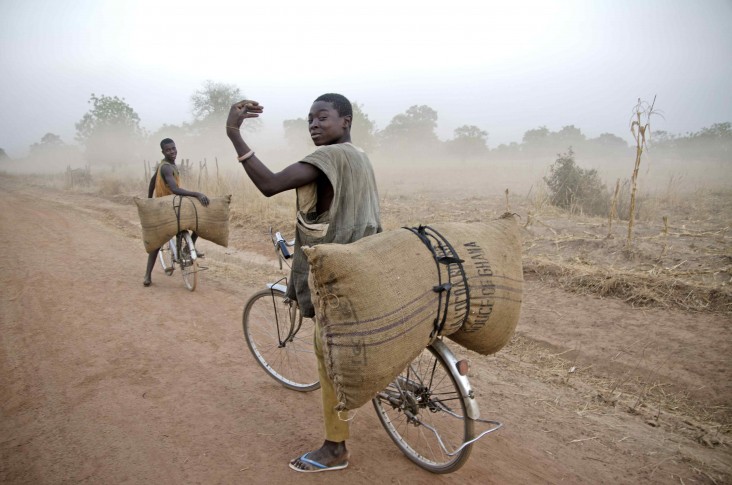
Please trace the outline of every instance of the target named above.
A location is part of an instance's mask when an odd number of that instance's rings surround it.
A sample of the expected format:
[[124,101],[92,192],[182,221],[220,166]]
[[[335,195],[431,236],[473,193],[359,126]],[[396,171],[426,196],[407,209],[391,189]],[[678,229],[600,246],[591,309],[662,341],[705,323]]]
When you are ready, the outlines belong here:
[[607,221],[544,211],[524,234],[524,270],[581,294],[633,305],[732,313],[732,191],[646,197],[633,246]]

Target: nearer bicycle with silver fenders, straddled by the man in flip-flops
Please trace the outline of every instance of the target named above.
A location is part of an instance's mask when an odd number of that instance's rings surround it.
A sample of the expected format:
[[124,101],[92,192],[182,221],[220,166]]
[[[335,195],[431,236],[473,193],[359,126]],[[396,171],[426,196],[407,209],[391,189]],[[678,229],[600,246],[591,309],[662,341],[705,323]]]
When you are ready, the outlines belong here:
[[[288,247],[294,241],[285,241],[272,229],[270,238],[281,269],[291,258]],[[297,302],[285,298],[281,281],[268,284],[246,303],[244,336],[259,365],[277,382],[296,391],[313,391],[320,387],[313,350],[315,321],[303,318]],[[476,441],[502,427],[480,417],[468,370],[468,361],[458,360],[437,338],[372,399],[389,437],[425,470],[458,470]],[[475,423],[490,427],[476,436]]]

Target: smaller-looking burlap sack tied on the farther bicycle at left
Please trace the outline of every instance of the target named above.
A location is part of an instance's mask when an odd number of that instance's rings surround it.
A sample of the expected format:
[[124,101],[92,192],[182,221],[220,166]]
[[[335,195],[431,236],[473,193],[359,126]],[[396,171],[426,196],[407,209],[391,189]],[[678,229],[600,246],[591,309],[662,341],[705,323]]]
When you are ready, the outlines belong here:
[[160,248],[178,233],[176,206],[180,205],[180,230],[196,231],[199,237],[221,246],[229,244],[231,195],[211,197],[204,207],[195,197],[166,195],[152,199],[135,197],[142,225],[142,242],[148,253]]

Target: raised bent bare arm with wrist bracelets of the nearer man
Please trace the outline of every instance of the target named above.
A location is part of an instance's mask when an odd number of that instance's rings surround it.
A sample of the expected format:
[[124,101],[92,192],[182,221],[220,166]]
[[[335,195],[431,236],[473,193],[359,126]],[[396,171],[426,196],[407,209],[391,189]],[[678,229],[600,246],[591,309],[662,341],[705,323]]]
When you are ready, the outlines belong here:
[[[246,118],[257,118],[263,107],[256,101],[244,100],[232,105],[226,120],[226,135],[231,140],[237,157],[246,156],[251,148],[241,136],[241,125]],[[286,190],[315,182],[320,171],[309,163],[293,163],[281,172],[273,173],[254,154],[242,161],[244,170],[262,194],[271,197]]]

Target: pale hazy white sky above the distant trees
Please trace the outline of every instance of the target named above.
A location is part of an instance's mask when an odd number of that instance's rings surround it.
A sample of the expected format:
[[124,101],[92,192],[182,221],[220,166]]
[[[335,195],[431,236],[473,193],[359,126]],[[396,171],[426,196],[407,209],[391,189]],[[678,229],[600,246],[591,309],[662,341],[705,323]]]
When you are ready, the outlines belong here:
[[[732,121],[732,0],[0,0],[0,148],[74,142],[91,93],[156,130],[191,121],[206,80],[265,106],[265,126],[340,92],[384,128],[415,104],[488,143],[542,125],[630,139],[637,98],[698,131]],[[226,142],[226,140],[222,140]]]

